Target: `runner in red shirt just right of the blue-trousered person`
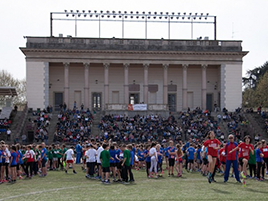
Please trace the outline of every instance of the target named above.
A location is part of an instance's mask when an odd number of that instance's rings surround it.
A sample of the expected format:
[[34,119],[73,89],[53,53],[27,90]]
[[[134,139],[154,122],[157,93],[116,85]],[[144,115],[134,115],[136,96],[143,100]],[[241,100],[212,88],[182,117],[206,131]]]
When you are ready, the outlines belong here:
[[254,147],[251,142],[251,137],[249,135],[244,137],[244,142],[241,142],[236,148],[230,151],[230,153],[238,150],[240,148],[239,153],[239,163],[242,166],[242,172],[241,175],[243,178],[247,176],[247,164],[249,159],[249,152],[251,151],[252,154],[254,154]]

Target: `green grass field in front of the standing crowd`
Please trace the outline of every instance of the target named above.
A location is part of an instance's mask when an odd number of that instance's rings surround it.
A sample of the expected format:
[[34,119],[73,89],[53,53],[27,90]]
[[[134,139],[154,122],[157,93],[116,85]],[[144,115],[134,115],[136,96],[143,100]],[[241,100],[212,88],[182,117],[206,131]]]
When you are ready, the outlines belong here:
[[[133,170],[135,182],[129,185],[104,185],[69,171],[52,171],[45,178],[19,180],[16,184],[0,185],[0,200],[267,200],[268,180],[248,179],[246,187],[229,178],[227,183],[217,175],[217,183],[209,184],[198,172],[185,173],[182,178],[164,176],[147,179],[145,170]],[[267,178],[268,179],[268,178]]]

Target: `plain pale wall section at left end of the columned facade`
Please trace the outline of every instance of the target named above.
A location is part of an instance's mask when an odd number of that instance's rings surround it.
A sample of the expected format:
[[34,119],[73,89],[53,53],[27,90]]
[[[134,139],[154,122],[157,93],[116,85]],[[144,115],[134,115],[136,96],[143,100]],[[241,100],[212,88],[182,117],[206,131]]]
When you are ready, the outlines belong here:
[[26,96],[28,107],[36,110],[45,105],[45,67],[46,62],[26,61]]

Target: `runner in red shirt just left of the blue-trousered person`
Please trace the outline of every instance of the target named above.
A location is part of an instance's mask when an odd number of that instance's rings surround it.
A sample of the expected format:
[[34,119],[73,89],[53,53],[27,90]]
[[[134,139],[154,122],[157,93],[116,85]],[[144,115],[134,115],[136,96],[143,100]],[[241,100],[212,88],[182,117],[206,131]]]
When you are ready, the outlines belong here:
[[212,174],[214,172],[215,164],[218,158],[218,150],[220,149],[220,141],[215,139],[215,133],[213,131],[208,132],[208,140],[204,142],[204,147],[207,147],[208,156],[208,182],[212,181]]

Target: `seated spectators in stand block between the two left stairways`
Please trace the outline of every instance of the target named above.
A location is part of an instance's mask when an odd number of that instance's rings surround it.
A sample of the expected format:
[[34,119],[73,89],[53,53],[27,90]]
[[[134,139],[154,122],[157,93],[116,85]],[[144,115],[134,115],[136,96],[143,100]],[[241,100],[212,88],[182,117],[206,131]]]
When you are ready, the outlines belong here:
[[90,110],[62,108],[54,133],[54,142],[76,143],[87,139],[91,134],[93,115]]

